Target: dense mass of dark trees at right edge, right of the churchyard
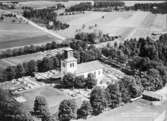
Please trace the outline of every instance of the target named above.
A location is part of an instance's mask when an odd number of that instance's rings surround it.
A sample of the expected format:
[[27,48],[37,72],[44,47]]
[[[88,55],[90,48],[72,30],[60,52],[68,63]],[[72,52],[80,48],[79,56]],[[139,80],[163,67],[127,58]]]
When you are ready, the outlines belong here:
[[[155,91],[165,86],[167,82],[167,35],[162,35],[154,41],[149,37],[139,40],[131,39],[117,47],[102,49],[112,65],[113,60],[121,60],[126,66],[120,68],[127,74],[140,80],[144,89]],[[105,62],[105,61],[104,61]],[[108,64],[110,64],[108,63]],[[131,70],[132,73],[129,73]]]

